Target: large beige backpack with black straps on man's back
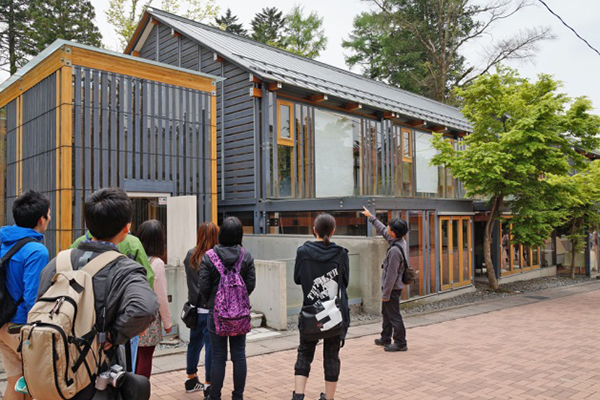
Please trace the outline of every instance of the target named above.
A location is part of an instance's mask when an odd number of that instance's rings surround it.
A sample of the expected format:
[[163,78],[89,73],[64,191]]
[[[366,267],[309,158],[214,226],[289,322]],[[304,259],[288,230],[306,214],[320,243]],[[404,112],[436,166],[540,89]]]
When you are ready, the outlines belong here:
[[35,399],[73,398],[95,383],[103,351],[95,328],[92,277],[123,254],[108,251],[78,271],[71,250],[56,257],[52,286],[34,304],[21,329],[27,389]]

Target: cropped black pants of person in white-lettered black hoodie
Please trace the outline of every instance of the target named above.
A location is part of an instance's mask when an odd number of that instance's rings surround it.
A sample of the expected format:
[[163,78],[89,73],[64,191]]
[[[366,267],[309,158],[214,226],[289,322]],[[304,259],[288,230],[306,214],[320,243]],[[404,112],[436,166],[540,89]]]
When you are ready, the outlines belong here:
[[[315,358],[315,350],[318,340],[306,340],[300,336],[298,346],[298,359],[296,360],[295,375],[306,376],[310,374],[310,364]],[[325,381],[337,382],[340,376],[340,346],[341,338],[335,336],[323,341],[323,369],[325,370]]]

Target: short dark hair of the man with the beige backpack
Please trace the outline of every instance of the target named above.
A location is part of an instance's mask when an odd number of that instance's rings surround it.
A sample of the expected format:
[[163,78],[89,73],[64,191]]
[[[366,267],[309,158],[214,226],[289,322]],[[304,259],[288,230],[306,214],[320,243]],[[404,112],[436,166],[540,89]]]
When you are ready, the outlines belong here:
[[131,200],[121,188],[96,190],[83,205],[85,224],[98,240],[112,239],[131,222]]

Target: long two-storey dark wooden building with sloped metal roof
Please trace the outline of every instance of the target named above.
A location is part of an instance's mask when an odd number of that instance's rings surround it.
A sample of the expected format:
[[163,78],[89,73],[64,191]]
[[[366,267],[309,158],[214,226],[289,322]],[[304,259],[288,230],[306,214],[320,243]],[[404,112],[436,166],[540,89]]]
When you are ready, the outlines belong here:
[[410,223],[410,296],[473,282],[473,201],[429,164],[432,132],[460,146],[457,108],[148,8],[128,55],[225,78],[217,84],[219,218],[255,234],[310,234],[332,213],[369,236],[363,206]]

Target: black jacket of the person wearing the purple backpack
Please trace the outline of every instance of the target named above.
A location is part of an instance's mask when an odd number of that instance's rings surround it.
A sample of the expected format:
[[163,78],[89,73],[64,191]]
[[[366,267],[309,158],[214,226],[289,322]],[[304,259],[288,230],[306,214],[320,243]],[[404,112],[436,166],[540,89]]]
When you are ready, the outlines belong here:
[[[215,246],[214,250],[227,269],[231,269],[240,258],[240,246],[225,247],[218,244]],[[249,296],[256,287],[256,273],[254,270],[254,259],[247,251],[244,256],[244,261],[242,261],[240,275],[246,284],[246,290],[248,290]],[[219,271],[213,265],[212,261],[210,261],[208,255],[204,254],[204,257],[202,257],[202,264],[200,265],[198,286],[200,288],[200,295],[208,300],[207,308],[212,309],[215,305],[215,294],[217,294],[219,282],[221,282]]]

